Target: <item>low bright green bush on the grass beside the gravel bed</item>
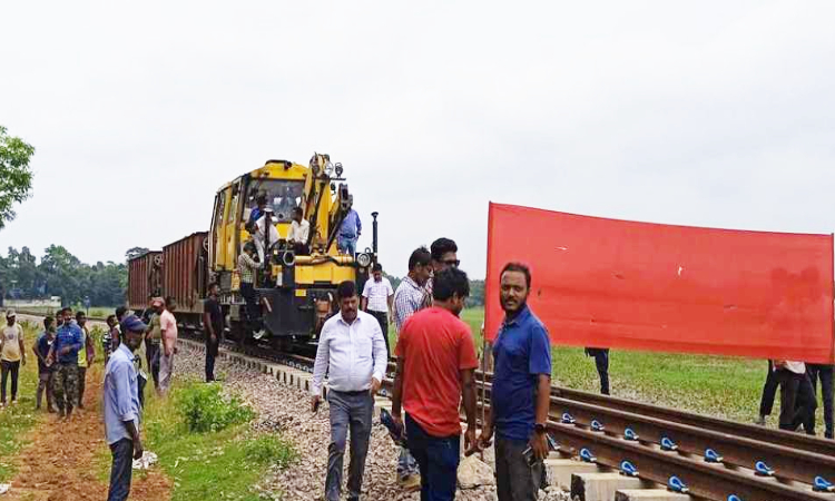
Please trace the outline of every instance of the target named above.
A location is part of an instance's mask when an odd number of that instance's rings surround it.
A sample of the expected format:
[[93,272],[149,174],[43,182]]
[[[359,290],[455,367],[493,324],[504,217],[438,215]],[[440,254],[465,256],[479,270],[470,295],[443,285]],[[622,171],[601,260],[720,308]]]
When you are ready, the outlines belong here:
[[239,399],[220,394],[220,385],[217,383],[195,384],[184,389],[177,407],[188,430],[197,433],[220,431],[255,418],[253,410]]

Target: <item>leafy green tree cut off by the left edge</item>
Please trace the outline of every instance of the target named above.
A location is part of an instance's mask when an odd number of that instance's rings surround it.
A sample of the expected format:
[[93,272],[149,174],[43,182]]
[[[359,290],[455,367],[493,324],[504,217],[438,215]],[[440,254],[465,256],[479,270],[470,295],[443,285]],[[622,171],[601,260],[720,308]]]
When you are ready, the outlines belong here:
[[29,159],[35,155],[32,145],[6,131],[6,127],[0,126],[0,229],[6,227],[6,222],[14,219],[13,205],[31,194]]

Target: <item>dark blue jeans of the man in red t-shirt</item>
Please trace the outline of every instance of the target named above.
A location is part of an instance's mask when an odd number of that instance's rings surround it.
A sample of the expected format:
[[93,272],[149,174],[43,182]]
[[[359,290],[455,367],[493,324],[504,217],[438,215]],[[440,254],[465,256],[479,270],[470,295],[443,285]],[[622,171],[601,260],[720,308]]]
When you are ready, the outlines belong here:
[[406,414],[406,440],[421,469],[421,501],[454,500],[461,435],[432,436]]

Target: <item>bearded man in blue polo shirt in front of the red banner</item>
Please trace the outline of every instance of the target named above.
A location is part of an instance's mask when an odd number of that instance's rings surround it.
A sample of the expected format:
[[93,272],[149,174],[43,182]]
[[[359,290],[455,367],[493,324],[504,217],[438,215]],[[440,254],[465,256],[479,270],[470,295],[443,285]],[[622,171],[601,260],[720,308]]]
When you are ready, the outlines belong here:
[[[499,501],[536,501],[548,456],[546,422],[551,392],[551,347],[542,322],[528,307],[531,273],[508,263],[500,275],[504,322],[493,345],[490,418],[479,448],[495,431],[495,479]],[[525,458],[525,450],[531,451]]]

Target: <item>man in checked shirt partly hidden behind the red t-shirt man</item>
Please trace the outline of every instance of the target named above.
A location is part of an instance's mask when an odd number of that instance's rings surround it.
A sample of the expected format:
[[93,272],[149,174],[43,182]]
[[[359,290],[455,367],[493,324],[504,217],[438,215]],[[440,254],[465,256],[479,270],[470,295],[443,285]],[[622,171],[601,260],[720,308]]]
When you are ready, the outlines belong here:
[[[431,276],[432,255],[426,247],[420,247],[409,257],[409,275],[403,277],[394,293],[394,326],[399,335],[406,320],[424,307],[426,283]],[[397,482],[407,490],[416,490],[421,487],[418,461],[414,460],[406,448],[400,450]]]

